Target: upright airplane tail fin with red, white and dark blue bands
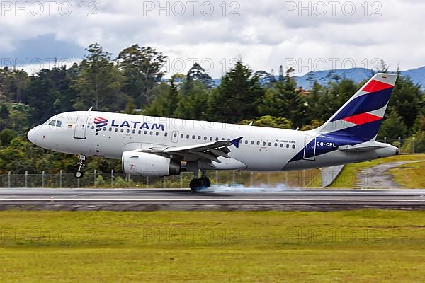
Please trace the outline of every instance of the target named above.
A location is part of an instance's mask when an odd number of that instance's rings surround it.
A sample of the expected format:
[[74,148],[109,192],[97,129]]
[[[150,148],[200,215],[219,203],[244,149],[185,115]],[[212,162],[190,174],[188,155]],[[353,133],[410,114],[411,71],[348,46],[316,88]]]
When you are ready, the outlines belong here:
[[319,134],[341,134],[361,141],[374,141],[396,79],[396,74],[375,74],[317,129]]

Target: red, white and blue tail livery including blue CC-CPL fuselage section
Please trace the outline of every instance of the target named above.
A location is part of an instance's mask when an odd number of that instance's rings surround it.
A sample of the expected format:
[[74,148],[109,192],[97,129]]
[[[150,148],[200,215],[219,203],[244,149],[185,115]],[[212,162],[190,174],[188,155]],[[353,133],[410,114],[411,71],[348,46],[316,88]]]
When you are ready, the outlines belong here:
[[[378,135],[396,79],[396,74],[375,74],[322,127],[309,131],[305,148],[290,162],[330,157],[327,154],[333,151],[341,153],[341,146],[358,151],[374,149],[376,144],[370,143]],[[332,146],[323,146],[326,144]]]

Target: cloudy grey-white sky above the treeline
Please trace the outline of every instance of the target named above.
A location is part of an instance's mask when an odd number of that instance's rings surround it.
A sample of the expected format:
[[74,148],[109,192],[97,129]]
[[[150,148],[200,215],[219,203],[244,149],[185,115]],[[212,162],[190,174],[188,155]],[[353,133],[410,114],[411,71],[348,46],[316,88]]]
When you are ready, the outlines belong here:
[[425,1],[1,1],[1,65],[74,62],[99,42],[114,57],[134,43],[169,56],[165,71],[200,62],[219,77],[236,58],[254,69],[425,65]]

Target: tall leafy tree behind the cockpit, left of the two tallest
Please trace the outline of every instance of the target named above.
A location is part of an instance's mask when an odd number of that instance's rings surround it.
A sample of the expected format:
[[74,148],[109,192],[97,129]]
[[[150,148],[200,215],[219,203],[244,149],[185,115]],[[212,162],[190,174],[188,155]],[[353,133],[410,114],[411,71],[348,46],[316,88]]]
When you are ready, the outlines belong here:
[[118,67],[111,62],[111,53],[104,52],[98,43],[86,49],[89,54],[81,62],[81,73],[73,87],[79,95],[74,103],[75,109],[117,111],[124,108],[127,98],[121,92],[123,76]]

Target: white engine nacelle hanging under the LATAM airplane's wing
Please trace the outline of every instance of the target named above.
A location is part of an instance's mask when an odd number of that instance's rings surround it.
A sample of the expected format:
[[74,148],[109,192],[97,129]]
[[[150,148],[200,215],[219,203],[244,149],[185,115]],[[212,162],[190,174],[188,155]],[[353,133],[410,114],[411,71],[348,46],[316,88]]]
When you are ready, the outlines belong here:
[[156,154],[138,151],[124,151],[123,172],[140,176],[171,176],[180,175],[181,162]]

